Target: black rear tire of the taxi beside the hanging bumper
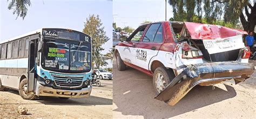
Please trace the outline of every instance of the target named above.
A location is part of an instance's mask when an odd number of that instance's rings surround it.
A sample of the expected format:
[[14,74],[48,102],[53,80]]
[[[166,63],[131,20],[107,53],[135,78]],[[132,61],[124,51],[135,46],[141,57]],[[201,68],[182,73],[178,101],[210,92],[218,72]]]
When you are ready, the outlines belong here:
[[166,69],[165,66],[159,66],[156,70],[154,70],[153,73],[153,87],[154,90],[156,91],[156,95],[158,95],[160,92],[157,91],[156,85],[155,85],[155,80],[156,80],[156,75],[157,73],[161,73],[164,76],[166,86],[170,84],[173,78],[175,78],[175,75],[172,71],[172,69]]

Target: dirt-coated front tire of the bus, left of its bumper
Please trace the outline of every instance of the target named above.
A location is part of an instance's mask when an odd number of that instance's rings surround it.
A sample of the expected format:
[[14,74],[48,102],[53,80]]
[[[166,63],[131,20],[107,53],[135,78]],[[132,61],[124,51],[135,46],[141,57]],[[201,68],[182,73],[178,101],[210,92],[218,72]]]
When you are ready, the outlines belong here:
[[35,94],[23,94],[23,86],[28,84],[28,79],[24,78],[22,79],[21,83],[19,83],[19,95],[21,95],[21,97],[25,100],[33,100],[36,98],[36,95]]

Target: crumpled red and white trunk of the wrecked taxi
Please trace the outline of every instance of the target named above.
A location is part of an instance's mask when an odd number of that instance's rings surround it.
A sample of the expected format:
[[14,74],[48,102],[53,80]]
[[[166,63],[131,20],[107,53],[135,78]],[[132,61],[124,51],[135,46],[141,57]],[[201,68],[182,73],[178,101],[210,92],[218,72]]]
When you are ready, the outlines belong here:
[[177,41],[199,49],[207,62],[237,61],[242,53],[241,49],[245,48],[242,42],[242,34],[247,34],[245,31],[188,22],[171,22],[171,26],[176,36],[180,33]]

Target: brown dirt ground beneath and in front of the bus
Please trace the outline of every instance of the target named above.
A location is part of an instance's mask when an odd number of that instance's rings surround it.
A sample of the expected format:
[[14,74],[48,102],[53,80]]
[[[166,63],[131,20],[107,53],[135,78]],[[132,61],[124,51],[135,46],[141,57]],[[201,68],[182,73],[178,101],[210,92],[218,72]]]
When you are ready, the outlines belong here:
[[[69,100],[45,96],[30,101],[18,91],[0,92],[0,118],[112,118],[112,88],[112,80],[102,80],[89,98]],[[28,109],[28,115],[16,113],[19,105]]]

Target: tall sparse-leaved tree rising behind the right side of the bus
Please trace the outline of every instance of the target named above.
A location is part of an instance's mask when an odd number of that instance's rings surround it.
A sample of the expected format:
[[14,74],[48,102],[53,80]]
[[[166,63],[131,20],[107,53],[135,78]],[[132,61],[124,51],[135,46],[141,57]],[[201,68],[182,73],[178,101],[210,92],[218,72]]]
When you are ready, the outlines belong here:
[[109,38],[106,36],[104,27],[102,27],[102,21],[98,15],[95,16],[92,14],[86,18],[83,32],[89,34],[92,39],[92,64],[94,68],[99,69],[100,66],[107,65],[104,55],[100,54],[100,52],[104,50],[102,45],[107,42]]

